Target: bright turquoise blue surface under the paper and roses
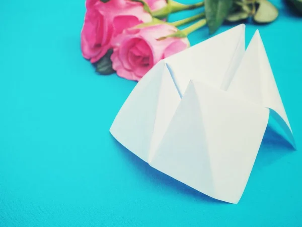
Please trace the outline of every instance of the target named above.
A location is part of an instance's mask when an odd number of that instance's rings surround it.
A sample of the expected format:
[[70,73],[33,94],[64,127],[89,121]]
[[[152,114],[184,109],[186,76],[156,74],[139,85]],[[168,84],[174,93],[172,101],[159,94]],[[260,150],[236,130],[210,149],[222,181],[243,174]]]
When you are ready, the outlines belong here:
[[[300,226],[302,19],[273,2],[277,21],[248,24],[246,37],[259,28],[298,150],[264,142],[233,205],[156,171],[111,137],[136,83],[98,76],[82,58],[84,1],[1,1],[0,226]],[[189,38],[196,44],[207,29]]]

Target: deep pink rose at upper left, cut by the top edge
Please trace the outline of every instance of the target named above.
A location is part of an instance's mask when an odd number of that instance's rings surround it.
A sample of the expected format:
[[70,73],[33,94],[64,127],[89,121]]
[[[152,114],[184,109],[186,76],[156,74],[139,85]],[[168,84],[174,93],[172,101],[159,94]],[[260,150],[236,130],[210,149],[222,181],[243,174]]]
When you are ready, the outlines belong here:
[[97,62],[111,48],[111,39],[125,28],[152,21],[141,3],[130,0],[86,1],[87,12],[81,33],[84,58]]

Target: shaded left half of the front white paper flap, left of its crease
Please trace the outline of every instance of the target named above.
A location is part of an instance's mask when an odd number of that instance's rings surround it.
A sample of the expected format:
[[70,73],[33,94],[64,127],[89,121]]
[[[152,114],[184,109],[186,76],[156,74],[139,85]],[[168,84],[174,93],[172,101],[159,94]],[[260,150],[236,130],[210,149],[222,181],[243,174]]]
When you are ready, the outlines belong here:
[[204,194],[212,195],[214,187],[205,129],[191,84],[149,164]]

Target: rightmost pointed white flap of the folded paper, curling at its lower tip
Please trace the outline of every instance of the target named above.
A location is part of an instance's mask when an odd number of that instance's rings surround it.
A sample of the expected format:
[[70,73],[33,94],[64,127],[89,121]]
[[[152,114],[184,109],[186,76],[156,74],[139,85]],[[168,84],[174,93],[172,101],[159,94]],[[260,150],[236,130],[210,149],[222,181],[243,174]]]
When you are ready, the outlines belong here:
[[274,110],[281,117],[277,118],[279,124],[282,124],[281,120],[284,121],[288,127],[283,127],[284,130],[292,133],[258,30],[227,90],[246,101]]

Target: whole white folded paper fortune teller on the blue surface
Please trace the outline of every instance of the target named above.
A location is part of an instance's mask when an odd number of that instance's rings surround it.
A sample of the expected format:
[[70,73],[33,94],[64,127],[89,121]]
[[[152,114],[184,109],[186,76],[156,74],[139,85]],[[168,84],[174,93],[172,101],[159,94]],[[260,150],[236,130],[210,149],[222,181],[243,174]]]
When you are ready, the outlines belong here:
[[270,113],[295,146],[260,34],[245,50],[239,25],[156,64],[110,132],[159,171],[238,203]]

